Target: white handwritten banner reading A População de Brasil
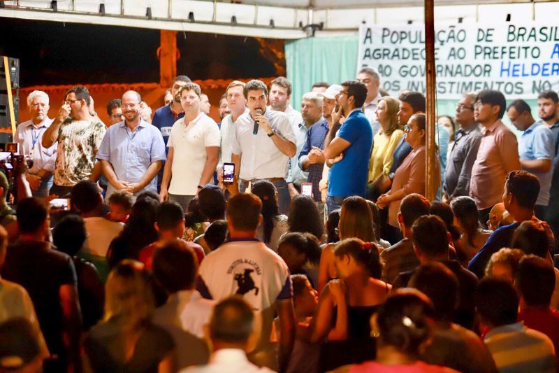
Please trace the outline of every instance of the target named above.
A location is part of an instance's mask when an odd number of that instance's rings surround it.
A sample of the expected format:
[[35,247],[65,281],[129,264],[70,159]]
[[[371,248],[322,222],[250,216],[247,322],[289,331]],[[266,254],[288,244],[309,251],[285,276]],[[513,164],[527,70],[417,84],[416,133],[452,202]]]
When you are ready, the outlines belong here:
[[[437,98],[500,90],[507,99],[535,99],[559,90],[559,27],[551,24],[457,24],[435,27]],[[425,92],[423,25],[359,29],[358,70],[374,67],[381,87]]]

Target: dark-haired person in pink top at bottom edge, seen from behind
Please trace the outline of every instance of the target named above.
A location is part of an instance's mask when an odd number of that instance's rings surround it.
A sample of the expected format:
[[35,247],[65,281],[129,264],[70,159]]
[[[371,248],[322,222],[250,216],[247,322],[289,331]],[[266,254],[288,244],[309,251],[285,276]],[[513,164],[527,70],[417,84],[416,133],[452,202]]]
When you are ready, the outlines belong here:
[[417,360],[421,345],[430,337],[433,312],[433,304],[419,290],[395,290],[371,318],[371,335],[377,338],[377,358],[352,365],[349,373],[456,372]]

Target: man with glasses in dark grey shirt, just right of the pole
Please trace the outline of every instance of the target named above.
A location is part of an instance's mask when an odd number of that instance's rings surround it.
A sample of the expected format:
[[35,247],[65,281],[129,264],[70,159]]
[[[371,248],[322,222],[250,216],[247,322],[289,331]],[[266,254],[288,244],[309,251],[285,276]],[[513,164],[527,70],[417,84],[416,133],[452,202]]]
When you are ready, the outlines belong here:
[[474,119],[475,99],[474,93],[467,93],[456,105],[455,120],[460,128],[454,134],[454,144],[444,175],[443,202],[449,203],[453,198],[470,194],[470,175],[483,136]]

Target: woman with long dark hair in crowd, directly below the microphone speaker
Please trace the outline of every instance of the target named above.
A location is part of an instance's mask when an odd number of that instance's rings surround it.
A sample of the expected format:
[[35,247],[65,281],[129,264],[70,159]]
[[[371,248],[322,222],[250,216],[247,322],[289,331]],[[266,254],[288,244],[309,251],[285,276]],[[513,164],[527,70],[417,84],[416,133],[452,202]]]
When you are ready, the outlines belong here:
[[259,180],[252,184],[251,192],[262,201],[263,219],[262,224],[256,231],[258,238],[264,241],[266,246],[273,251],[277,251],[279,237],[282,237],[282,234],[289,229],[287,216],[279,213],[277,190],[270,181]]

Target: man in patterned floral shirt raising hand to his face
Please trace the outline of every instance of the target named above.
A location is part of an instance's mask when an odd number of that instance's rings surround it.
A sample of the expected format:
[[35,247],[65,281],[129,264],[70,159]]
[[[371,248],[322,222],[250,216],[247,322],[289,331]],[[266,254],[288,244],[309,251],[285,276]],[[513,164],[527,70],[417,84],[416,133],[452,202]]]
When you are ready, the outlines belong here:
[[64,197],[71,192],[73,185],[92,176],[95,155],[105,132],[106,125],[89,113],[92,98],[89,90],[82,85],[66,92],[66,99],[57,118],[45,129],[43,147],[50,148],[58,141],[55,164],[55,185],[50,193]]

